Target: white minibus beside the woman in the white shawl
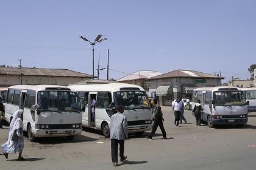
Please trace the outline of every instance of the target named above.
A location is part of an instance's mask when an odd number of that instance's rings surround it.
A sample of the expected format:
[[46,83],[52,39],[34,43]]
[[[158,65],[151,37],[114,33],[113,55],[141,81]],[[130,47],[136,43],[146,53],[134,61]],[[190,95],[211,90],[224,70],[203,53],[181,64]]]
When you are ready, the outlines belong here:
[[37,137],[66,136],[72,140],[82,133],[82,110],[76,91],[65,86],[10,86],[5,103],[5,119],[23,109],[23,130],[30,141]]

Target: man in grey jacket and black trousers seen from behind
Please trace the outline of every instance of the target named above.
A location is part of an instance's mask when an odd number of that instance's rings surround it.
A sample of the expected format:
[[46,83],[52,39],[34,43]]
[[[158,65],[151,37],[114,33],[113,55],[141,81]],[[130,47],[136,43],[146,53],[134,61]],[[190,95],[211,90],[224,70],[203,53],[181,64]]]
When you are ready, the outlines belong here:
[[126,160],[124,140],[128,138],[127,118],[123,115],[124,106],[118,106],[118,112],[110,119],[111,157],[114,166],[118,166],[118,144],[120,161]]

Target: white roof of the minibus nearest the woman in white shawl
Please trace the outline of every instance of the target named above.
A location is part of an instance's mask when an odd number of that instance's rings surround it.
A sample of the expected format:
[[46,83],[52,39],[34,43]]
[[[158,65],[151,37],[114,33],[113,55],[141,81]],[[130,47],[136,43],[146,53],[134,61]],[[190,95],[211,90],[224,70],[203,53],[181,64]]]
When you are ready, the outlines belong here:
[[15,86],[10,86],[8,89],[25,89],[25,90],[36,90],[36,91],[41,91],[41,90],[68,90],[70,91],[71,89],[66,87],[66,86],[58,86],[58,85],[15,85]]

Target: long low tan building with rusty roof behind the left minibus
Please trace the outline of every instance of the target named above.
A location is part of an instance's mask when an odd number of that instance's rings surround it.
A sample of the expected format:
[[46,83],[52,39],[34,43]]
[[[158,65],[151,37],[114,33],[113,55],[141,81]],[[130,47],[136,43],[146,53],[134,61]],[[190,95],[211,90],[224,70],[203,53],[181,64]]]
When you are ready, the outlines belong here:
[[0,67],[0,87],[9,87],[17,84],[68,86],[68,84],[91,78],[92,75],[68,69]]

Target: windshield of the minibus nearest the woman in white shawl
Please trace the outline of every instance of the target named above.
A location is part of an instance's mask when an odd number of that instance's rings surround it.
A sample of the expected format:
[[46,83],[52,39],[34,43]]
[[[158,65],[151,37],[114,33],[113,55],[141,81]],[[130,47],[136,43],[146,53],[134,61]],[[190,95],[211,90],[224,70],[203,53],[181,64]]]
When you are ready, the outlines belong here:
[[76,92],[45,90],[38,92],[37,104],[40,110],[80,112],[80,102]]

